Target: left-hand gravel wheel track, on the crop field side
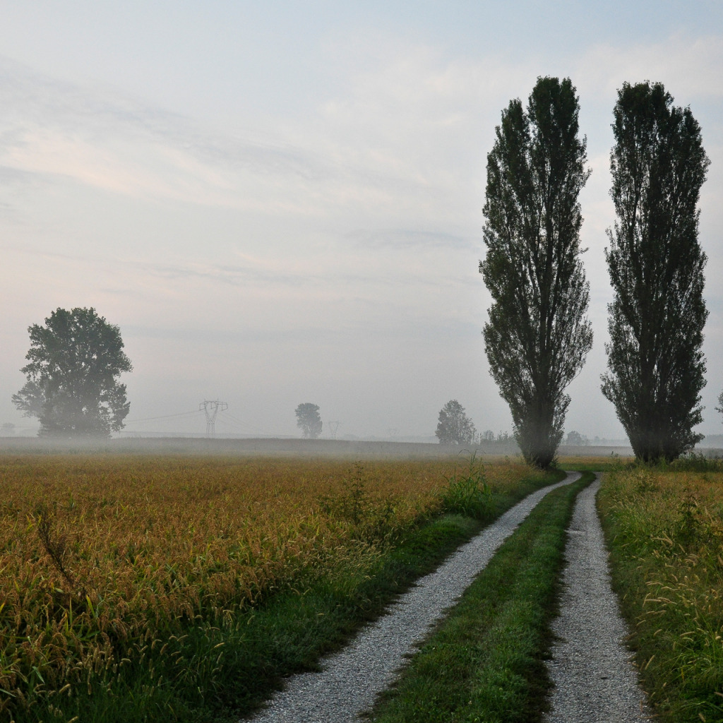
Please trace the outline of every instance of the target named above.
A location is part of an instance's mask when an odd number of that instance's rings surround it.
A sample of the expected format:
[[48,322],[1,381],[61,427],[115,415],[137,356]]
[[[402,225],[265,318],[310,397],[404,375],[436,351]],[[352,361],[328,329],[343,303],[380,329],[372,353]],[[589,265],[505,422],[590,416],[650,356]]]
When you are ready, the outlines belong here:
[[[393,683],[405,656],[414,652],[429,627],[442,617],[487,565],[502,542],[552,489],[578,479],[570,473],[563,482],[533,492],[460,547],[434,573],[393,604],[376,623],[359,632],[342,651],[322,661],[322,671],[288,679],[254,723],[346,723],[375,701]],[[573,719],[570,719],[573,720]],[[632,719],[630,719],[632,721]]]

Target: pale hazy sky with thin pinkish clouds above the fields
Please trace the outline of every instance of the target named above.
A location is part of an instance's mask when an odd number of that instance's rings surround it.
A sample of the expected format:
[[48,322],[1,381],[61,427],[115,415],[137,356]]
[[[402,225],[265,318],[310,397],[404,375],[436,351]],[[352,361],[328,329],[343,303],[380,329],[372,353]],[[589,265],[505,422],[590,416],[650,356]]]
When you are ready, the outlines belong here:
[[130,432],[434,435],[457,399],[511,430],[489,376],[487,153],[510,99],[570,77],[594,346],[566,431],[624,437],[606,369],[612,108],[663,82],[711,160],[700,431],[723,432],[723,4],[718,0],[0,0],[0,423],[27,328],[118,325]]

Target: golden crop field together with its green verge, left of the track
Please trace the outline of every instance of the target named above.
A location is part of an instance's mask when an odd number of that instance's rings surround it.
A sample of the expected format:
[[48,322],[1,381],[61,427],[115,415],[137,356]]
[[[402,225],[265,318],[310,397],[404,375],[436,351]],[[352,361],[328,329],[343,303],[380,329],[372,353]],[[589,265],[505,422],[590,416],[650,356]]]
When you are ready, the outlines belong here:
[[219,720],[529,492],[515,463],[0,458],[0,718]]

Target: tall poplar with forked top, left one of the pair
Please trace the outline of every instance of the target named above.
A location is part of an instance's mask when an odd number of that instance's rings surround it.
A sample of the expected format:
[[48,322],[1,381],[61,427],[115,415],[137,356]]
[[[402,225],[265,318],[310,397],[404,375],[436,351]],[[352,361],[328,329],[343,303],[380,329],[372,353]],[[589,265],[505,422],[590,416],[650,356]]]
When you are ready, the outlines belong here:
[[520,100],[502,111],[487,156],[485,351],[523,456],[542,469],[562,440],[564,390],[592,346],[578,202],[590,171],[578,111],[569,78],[538,78],[527,112]]

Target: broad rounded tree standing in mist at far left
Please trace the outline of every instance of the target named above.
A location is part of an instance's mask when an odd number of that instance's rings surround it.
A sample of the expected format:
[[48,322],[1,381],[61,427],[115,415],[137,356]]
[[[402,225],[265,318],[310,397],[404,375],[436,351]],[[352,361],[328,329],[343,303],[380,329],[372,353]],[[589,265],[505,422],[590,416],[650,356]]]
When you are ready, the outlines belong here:
[[130,405],[126,385],[116,377],[130,372],[117,326],[95,309],[56,309],[46,325],[28,328],[30,361],[20,371],[25,386],[12,402],[40,421],[40,436],[100,436],[123,427]]

